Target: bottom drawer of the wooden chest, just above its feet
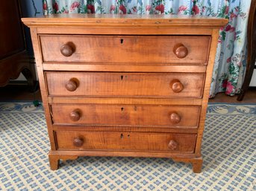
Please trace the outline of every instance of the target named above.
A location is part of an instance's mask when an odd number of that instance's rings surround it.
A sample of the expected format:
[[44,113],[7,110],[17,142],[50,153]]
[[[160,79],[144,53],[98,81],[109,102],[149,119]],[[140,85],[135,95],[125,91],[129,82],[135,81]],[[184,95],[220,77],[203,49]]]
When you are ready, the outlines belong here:
[[57,149],[194,152],[196,134],[55,132]]

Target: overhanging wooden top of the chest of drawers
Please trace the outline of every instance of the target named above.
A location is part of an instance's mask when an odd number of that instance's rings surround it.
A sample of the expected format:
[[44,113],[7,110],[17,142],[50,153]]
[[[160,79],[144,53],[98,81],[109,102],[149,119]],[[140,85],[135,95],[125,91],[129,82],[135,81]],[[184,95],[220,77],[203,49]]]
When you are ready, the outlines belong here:
[[210,27],[219,28],[227,19],[205,16],[175,15],[112,15],[112,14],[54,14],[35,18],[22,18],[29,27],[38,26],[119,26],[119,27]]

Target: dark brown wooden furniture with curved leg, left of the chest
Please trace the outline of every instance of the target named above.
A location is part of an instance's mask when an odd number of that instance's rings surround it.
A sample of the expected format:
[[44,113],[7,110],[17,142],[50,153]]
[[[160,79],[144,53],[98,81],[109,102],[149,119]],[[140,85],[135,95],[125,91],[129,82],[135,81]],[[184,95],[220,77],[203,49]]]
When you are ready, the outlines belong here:
[[33,90],[37,77],[26,48],[19,1],[1,1],[0,27],[0,86],[22,72]]

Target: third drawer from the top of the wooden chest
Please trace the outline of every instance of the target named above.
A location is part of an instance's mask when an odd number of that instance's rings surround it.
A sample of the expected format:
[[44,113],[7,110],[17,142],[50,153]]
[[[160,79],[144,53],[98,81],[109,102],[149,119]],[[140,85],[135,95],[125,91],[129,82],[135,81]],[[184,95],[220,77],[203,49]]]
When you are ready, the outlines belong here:
[[54,124],[197,127],[200,106],[51,105]]

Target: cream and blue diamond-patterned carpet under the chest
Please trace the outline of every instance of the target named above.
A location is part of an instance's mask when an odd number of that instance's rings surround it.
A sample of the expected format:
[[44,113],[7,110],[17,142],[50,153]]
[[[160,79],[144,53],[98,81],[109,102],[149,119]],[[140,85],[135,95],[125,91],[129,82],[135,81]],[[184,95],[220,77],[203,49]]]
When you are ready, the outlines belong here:
[[49,170],[42,107],[0,103],[0,190],[256,190],[256,105],[210,104],[202,173],[166,158],[84,157]]

